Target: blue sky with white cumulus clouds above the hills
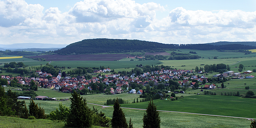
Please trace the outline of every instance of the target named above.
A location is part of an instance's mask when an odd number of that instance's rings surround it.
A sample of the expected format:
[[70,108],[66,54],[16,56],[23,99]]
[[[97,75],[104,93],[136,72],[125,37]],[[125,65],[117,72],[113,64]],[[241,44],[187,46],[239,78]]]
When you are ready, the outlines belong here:
[[0,45],[256,41],[256,0],[0,0]]

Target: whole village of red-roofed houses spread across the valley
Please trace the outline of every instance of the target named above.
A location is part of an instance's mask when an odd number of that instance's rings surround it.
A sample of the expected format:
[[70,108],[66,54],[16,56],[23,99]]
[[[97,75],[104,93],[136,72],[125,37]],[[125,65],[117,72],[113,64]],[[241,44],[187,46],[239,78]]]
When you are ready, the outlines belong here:
[[[121,76],[119,74],[108,74],[108,75],[101,75],[101,73],[109,73],[111,71],[110,68],[103,69],[103,70],[94,70],[94,73],[97,73],[97,77],[92,77],[91,79],[87,80],[84,76],[77,76],[77,77],[70,77],[70,76],[61,76],[61,71],[59,71],[58,76],[52,76],[50,73],[42,72],[42,71],[36,71],[35,73],[38,74],[39,77],[10,77],[10,76],[4,76],[1,75],[2,79],[7,79],[8,84],[11,83],[14,78],[18,80],[18,84],[20,85],[29,85],[31,81],[35,81],[38,88],[48,88],[53,90],[59,90],[59,92],[63,93],[70,93],[74,91],[78,91],[83,94],[83,92],[86,93],[106,93],[106,94],[120,94],[120,93],[133,93],[133,94],[143,94],[145,89],[143,87],[149,85],[149,81],[153,81],[154,85],[152,86],[158,86],[159,84],[164,84],[165,87],[169,87],[169,80],[176,80],[178,82],[178,87],[176,89],[181,89],[182,91],[175,92],[175,93],[184,93],[184,88],[193,88],[195,87],[195,84],[202,83],[201,87],[197,89],[215,89],[215,88],[222,88],[216,86],[213,82],[208,82],[208,78],[203,75],[203,71],[198,71],[198,75],[195,75],[195,72],[193,70],[182,70],[182,69],[169,69],[165,70],[164,68],[160,71],[154,71],[154,72],[144,72],[137,76],[135,73],[133,73],[131,76]],[[213,75],[212,78],[218,77],[223,79],[223,77],[231,77],[232,79],[251,79],[255,76],[245,76],[245,74],[249,74],[252,71],[245,71],[243,74],[237,72],[234,73],[234,71],[227,71],[223,72],[221,74]],[[201,76],[199,76],[201,74]],[[208,75],[207,73],[205,73]],[[50,78],[49,78],[50,76]],[[48,77],[48,79],[46,78]],[[195,81],[196,80],[196,81]],[[96,88],[92,87],[91,85],[95,83]],[[99,88],[99,83],[101,83],[101,86],[103,85],[103,90]],[[131,88],[131,84],[136,83],[137,85],[140,85],[140,88]],[[206,84],[210,83],[210,85]],[[205,84],[205,85],[203,85]],[[101,87],[102,88],[102,87]],[[19,89],[22,91],[22,89]],[[26,90],[29,90],[27,88]],[[168,89],[167,89],[168,91]],[[171,92],[171,91],[168,91]],[[30,99],[31,97],[24,97],[20,96],[19,99]],[[49,98],[47,96],[37,96],[35,97],[36,100],[56,100],[56,98]]]

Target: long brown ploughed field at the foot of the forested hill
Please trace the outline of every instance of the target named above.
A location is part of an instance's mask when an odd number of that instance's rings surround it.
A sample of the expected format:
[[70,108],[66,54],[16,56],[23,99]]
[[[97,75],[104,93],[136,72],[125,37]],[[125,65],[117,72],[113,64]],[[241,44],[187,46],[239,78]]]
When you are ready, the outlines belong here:
[[129,54],[87,54],[87,55],[41,55],[29,56],[31,58],[45,58],[46,61],[114,61],[126,57],[132,57]]

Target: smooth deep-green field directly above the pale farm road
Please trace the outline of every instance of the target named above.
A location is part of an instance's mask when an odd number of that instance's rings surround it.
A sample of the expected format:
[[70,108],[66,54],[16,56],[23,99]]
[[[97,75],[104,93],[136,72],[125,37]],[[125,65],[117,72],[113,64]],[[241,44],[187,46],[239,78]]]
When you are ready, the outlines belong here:
[[[245,99],[238,96],[195,95],[176,101],[154,100],[158,110],[190,112],[210,115],[256,118],[254,111],[256,99]],[[123,104],[123,107],[147,107],[147,102]]]

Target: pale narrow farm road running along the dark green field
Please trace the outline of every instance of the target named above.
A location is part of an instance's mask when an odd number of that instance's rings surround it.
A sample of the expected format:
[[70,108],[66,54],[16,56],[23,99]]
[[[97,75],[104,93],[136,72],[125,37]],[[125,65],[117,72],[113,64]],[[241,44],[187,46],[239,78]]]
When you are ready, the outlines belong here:
[[[87,104],[92,104],[92,103],[87,103]],[[99,105],[99,104],[92,104],[92,105],[102,106],[102,108],[112,107],[112,106],[105,106],[105,105]],[[124,108],[124,107],[121,107],[121,108]],[[139,109],[139,108],[124,108],[124,109],[146,110],[146,109]],[[176,111],[162,111],[162,110],[157,110],[157,111],[159,111],[159,112],[176,112]],[[176,112],[176,113],[195,114],[195,115],[204,115],[204,116],[219,116],[219,115],[209,115],[209,114],[199,114],[199,113],[189,113],[189,112]],[[234,116],[219,116],[219,117],[230,117],[230,118],[256,120],[256,119],[252,119],[252,118],[234,117]]]

